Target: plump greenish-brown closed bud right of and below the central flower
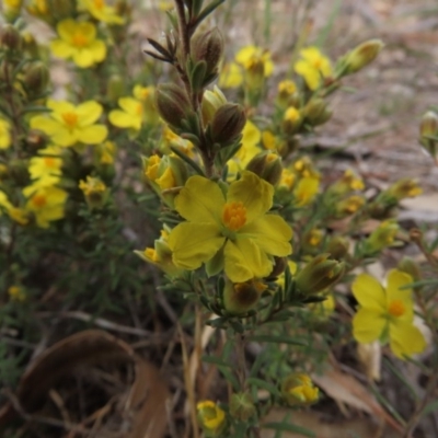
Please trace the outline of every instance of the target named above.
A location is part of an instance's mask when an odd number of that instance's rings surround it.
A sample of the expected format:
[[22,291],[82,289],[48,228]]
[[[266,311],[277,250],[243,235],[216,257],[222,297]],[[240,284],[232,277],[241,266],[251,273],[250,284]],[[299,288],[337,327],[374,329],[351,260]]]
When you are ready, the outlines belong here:
[[297,287],[302,295],[314,295],[337,283],[344,275],[343,262],[330,258],[330,254],[313,257],[297,277]]

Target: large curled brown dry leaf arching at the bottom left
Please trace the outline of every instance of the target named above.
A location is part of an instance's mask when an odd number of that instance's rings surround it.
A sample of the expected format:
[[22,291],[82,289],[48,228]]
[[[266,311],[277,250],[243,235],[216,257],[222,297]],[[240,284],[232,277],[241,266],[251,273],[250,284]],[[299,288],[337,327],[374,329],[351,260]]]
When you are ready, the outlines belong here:
[[[23,374],[16,400],[26,414],[38,411],[50,389],[77,367],[100,364],[132,364],[136,380],[125,414],[131,419],[128,438],[162,438],[166,427],[168,387],[157,368],[135,355],[124,341],[100,331],[88,330],[71,335],[47,348]],[[12,403],[0,411],[0,428],[18,415]]]

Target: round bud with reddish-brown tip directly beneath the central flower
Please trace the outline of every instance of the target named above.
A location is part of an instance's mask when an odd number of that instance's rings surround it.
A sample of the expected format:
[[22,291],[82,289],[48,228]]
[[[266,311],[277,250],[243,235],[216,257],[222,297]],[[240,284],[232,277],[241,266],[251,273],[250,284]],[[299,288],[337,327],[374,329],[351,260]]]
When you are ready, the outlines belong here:
[[241,315],[254,309],[267,286],[262,281],[231,283],[223,289],[223,307],[232,314]]

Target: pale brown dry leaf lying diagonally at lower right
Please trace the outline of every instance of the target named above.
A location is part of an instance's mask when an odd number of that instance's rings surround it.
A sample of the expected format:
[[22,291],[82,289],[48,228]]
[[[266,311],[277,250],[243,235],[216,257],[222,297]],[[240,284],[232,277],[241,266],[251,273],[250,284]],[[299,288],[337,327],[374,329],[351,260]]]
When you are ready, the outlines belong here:
[[399,423],[383,410],[367,388],[353,376],[332,368],[327,369],[324,374],[313,374],[312,379],[336,402],[345,403],[359,411],[374,415],[395,430],[401,430]]

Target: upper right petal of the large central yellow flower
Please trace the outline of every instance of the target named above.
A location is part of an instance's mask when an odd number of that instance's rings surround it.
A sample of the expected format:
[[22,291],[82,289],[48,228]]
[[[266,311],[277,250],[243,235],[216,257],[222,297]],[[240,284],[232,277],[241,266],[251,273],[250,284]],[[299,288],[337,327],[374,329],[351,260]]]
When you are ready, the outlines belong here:
[[246,208],[246,223],[264,215],[273,206],[274,187],[255,173],[244,171],[242,177],[231,183],[227,201],[241,201]]

